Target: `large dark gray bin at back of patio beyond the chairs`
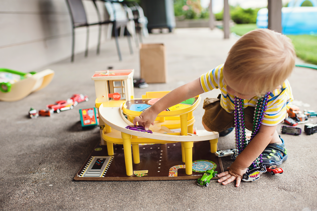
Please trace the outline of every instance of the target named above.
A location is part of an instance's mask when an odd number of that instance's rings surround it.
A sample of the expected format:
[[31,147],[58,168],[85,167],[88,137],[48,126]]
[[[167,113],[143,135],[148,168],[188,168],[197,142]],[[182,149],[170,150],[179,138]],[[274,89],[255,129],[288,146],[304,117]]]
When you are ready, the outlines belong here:
[[168,28],[171,32],[175,26],[173,0],[142,0],[144,15],[148,19],[147,29]]

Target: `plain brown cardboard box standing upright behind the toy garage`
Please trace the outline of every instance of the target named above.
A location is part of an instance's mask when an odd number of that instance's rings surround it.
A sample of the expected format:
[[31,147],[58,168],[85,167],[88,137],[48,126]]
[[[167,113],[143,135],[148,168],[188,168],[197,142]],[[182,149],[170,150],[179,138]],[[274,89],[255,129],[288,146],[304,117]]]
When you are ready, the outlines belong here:
[[167,81],[165,51],[162,43],[140,44],[141,78],[144,78],[147,83]]

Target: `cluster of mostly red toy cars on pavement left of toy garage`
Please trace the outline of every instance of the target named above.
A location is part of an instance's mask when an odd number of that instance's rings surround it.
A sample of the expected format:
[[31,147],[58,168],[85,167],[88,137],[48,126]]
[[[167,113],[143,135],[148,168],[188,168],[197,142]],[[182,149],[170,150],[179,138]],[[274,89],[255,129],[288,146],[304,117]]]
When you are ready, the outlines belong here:
[[60,113],[64,110],[73,109],[79,102],[88,101],[87,95],[74,94],[67,100],[56,101],[54,104],[49,104],[46,109],[41,109],[39,112],[36,109],[31,108],[29,111],[29,117],[34,119],[40,116],[51,116],[54,112]]

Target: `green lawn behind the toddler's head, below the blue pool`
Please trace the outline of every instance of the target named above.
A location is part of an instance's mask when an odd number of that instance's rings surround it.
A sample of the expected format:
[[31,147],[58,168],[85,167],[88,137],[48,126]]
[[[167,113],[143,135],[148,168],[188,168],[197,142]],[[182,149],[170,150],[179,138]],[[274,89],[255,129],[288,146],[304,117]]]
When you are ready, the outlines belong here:
[[[239,36],[255,30],[256,24],[236,24],[231,32]],[[287,35],[293,42],[296,55],[307,63],[317,65],[317,36],[313,35]]]

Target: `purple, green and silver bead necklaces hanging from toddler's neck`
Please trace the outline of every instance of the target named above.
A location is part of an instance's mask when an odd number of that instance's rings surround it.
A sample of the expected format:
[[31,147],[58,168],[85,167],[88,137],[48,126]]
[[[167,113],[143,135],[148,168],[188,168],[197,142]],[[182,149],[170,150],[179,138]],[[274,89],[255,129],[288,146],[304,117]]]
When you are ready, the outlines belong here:
[[[266,93],[264,96],[259,97],[256,102],[256,107],[254,110],[254,119],[253,119],[253,129],[251,134],[251,139],[256,135],[257,131],[260,128],[261,122],[264,117],[264,112],[268,104],[268,96],[271,92]],[[248,141],[245,135],[244,127],[244,110],[243,110],[243,99],[240,99],[235,96],[235,141],[236,141],[236,152],[239,155],[243,149],[248,145]],[[256,160],[251,164],[250,167],[258,168],[260,162],[262,162],[262,154],[256,158]],[[250,168],[249,167],[249,168]]]

